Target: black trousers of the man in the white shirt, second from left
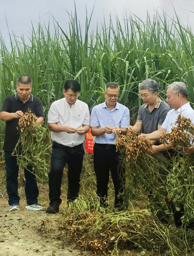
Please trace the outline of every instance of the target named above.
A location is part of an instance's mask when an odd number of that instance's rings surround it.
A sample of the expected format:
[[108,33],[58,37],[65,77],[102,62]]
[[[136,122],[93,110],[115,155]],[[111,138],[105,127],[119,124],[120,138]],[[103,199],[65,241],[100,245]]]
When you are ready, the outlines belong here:
[[80,174],[84,156],[83,144],[75,147],[63,146],[53,142],[51,154],[51,171],[49,173],[50,205],[61,203],[61,180],[63,169],[68,164],[68,202],[78,197],[80,190]]

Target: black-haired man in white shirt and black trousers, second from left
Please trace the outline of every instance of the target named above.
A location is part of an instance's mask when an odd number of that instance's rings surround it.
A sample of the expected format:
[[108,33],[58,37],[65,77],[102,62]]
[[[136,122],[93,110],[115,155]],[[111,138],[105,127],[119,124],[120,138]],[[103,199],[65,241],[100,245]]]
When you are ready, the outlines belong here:
[[78,100],[80,84],[76,80],[67,80],[64,84],[64,98],[52,103],[48,111],[48,128],[51,131],[52,154],[49,174],[48,213],[59,212],[61,203],[61,180],[63,169],[68,164],[69,202],[78,197],[80,174],[83,163],[83,141],[90,129],[88,105]]

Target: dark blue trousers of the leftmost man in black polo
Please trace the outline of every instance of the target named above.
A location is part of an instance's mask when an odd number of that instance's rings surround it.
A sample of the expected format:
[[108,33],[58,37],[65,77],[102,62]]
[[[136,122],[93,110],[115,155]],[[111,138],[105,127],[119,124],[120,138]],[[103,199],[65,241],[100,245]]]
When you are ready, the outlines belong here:
[[[5,167],[6,167],[6,185],[7,194],[9,196],[9,205],[19,204],[20,197],[18,195],[18,170],[17,157],[11,155],[12,152],[5,151]],[[27,204],[38,203],[38,187],[36,176],[33,173],[32,166],[27,166],[24,169],[25,175],[25,193]]]

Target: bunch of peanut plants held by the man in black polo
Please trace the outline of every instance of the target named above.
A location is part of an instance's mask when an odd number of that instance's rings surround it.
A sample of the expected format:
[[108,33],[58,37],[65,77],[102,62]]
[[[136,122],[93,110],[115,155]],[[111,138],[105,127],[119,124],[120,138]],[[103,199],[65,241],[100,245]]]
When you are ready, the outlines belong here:
[[31,165],[39,180],[48,178],[51,140],[48,128],[37,122],[37,116],[28,110],[18,122],[20,138],[13,151],[21,169]]

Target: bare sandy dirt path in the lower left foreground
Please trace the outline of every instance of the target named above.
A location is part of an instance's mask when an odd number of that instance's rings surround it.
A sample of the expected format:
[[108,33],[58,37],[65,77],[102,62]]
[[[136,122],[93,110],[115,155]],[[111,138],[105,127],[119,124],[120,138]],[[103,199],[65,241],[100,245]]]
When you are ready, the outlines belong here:
[[9,212],[7,200],[0,197],[0,256],[91,255],[55,238],[60,219],[61,214],[27,210],[25,204],[20,204],[18,211]]

